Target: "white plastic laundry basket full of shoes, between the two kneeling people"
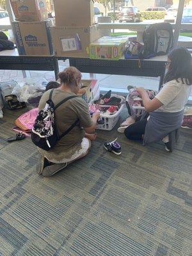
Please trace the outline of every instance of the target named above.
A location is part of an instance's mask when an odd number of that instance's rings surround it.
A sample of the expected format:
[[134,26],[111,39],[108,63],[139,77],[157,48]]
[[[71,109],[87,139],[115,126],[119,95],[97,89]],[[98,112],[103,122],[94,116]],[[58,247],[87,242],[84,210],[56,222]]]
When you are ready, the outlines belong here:
[[[111,95],[111,97],[117,97],[117,98],[120,98],[122,99],[122,102],[125,102],[125,98],[120,96],[120,95]],[[113,129],[113,127],[115,127],[116,123],[118,122],[118,119],[120,117],[120,113],[122,112],[124,108],[124,103],[122,104],[122,106],[120,107],[120,109],[114,114],[114,115],[100,115],[100,118],[102,120],[104,120],[104,124],[98,124],[96,129],[99,129],[99,130],[105,130],[105,131],[111,131]]]

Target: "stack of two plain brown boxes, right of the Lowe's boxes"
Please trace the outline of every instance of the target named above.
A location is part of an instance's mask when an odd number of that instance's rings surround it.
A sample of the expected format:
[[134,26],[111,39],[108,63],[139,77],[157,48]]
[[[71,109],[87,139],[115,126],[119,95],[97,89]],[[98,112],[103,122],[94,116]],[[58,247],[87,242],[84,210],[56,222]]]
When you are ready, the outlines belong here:
[[56,26],[51,28],[56,56],[88,57],[90,43],[99,39],[93,0],[54,0]]

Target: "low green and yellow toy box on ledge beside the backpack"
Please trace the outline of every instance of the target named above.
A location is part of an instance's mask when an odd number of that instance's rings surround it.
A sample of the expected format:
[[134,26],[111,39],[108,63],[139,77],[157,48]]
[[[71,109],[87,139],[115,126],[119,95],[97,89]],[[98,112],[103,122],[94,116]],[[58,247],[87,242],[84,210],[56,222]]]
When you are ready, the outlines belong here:
[[90,44],[90,59],[119,60],[124,55],[127,36],[104,36]]

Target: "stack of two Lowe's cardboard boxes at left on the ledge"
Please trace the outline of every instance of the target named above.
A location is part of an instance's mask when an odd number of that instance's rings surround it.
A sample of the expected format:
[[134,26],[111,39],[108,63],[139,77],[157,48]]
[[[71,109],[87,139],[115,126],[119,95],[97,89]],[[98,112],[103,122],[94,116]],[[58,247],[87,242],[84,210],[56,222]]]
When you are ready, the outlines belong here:
[[10,0],[15,20],[12,22],[15,43],[20,55],[53,54],[46,0]]

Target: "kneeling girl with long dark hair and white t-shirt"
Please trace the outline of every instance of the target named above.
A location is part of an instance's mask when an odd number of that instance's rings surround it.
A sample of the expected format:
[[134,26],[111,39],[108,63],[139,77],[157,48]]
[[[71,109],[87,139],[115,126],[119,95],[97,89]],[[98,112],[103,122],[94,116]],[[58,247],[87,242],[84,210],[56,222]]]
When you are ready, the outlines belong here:
[[149,113],[145,120],[129,125],[125,136],[129,140],[143,140],[143,145],[163,140],[169,150],[168,134],[179,129],[184,116],[184,106],[192,91],[192,58],[184,47],[168,54],[167,73],[160,92],[152,100],[144,88],[136,88]]

